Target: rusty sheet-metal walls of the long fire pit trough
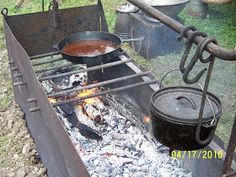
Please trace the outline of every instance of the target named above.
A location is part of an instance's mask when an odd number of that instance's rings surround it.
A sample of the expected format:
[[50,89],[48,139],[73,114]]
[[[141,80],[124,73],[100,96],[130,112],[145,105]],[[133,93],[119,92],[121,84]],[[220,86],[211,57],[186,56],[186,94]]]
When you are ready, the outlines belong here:
[[[57,16],[57,25],[54,23],[53,13]],[[28,128],[35,140],[41,160],[48,169],[49,176],[89,177],[68,133],[40,86],[30,60],[38,58],[37,55],[48,55],[53,52],[52,45],[70,33],[86,30],[107,31],[100,0],[97,5],[56,12],[47,11],[15,16],[5,14],[3,23],[15,100],[25,113]],[[120,57],[121,61],[126,59],[124,56]],[[119,71],[120,76],[142,72],[137,65],[129,62],[116,68],[104,69],[104,72],[109,73],[108,79],[116,77],[117,73],[111,72],[114,69]],[[149,81],[150,78],[153,79],[149,74],[144,80]],[[132,95],[137,103],[142,105],[142,111],[148,114],[149,98],[157,89],[158,84],[155,84],[126,92]],[[208,149],[222,150],[215,141]],[[222,159],[186,158],[185,161],[186,166],[195,176],[210,176],[208,175],[210,171],[211,174],[218,176],[220,173],[218,168],[223,166]]]

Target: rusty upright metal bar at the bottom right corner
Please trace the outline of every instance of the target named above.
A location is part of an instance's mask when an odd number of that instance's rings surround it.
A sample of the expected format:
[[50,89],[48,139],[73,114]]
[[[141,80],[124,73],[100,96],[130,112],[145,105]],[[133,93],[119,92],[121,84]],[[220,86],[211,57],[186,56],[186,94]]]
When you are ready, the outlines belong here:
[[225,174],[232,173],[231,165],[234,159],[235,148],[236,148],[236,116],[234,118],[234,124],[232,127],[229,144],[226,151],[226,157],[225,157],[225,162],[224,162],[224,167],[223,167],[223,176]]

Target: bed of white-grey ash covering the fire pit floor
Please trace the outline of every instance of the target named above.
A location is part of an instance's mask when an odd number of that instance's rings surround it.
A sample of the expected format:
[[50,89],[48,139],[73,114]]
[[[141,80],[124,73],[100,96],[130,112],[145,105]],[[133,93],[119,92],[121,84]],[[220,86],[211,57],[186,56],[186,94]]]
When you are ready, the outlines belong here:
[[[72,83],[73,78],[70,77],[68,83]],[[112,100],[112,103],[114,102]],[[92,177],[192,176],[181,161],[169,156],[168,148],[154,140],[142,127],[134,125],[137,117],[131,121],[132,111],[123,106],[128,104],[127,102],[116,104],[122,109],[122,115],[119,113],[120,109],[113,106],[114,104],[104,105],[106,113],[101,115],[106,124],[96,124],[83,114],[80,106],[75,106],[79,121],[100,132],[102,141],[82,136],[79,129],[73,126],[68,118],[63,117],[63,111],[59,107],[55,109]],[[139,119],[141,120],[141,117]]]

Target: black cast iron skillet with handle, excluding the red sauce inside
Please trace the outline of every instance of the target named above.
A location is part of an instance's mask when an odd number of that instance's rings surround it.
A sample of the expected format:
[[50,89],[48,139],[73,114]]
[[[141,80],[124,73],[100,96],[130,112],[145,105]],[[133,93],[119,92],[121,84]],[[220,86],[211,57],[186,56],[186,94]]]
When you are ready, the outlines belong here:
[[[69,36],[64,37],[61,39],[53,48],[57,49],[61,55],[68,61],[74,64],[87,64],[90,66],[98,65],[100,63],[106,63],[111,61],[115,56],[119,53],[119,48],[123,42],[130,42],[130,41],[142,41],[144,38],[136,38],[136,39],[121,39],[120,37],[108,33],[108,32],[100,32],[100,31],[85,31],[79,32],[75,34],[71,34]],[[63,48],[80,41],[92,41],[92,40],[101,40],[112,42],[115,46],[114,50],[96,55],[96,56],[78,56],[69,53],[65,53]],[[140,44],[142,45],[142,43]]]

